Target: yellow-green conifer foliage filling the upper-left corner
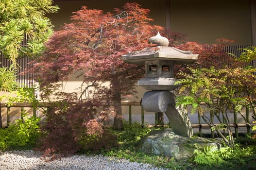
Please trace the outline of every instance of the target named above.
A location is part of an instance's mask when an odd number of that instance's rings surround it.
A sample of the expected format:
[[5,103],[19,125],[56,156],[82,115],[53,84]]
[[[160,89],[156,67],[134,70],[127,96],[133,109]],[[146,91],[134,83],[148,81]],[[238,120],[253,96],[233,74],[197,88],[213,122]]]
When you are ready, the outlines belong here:
[[37,56],[52,34],[51,21],[45,15],[57,9],[52,0],[1,0],[0,51],[4,56],[15,65],[18,57]]

